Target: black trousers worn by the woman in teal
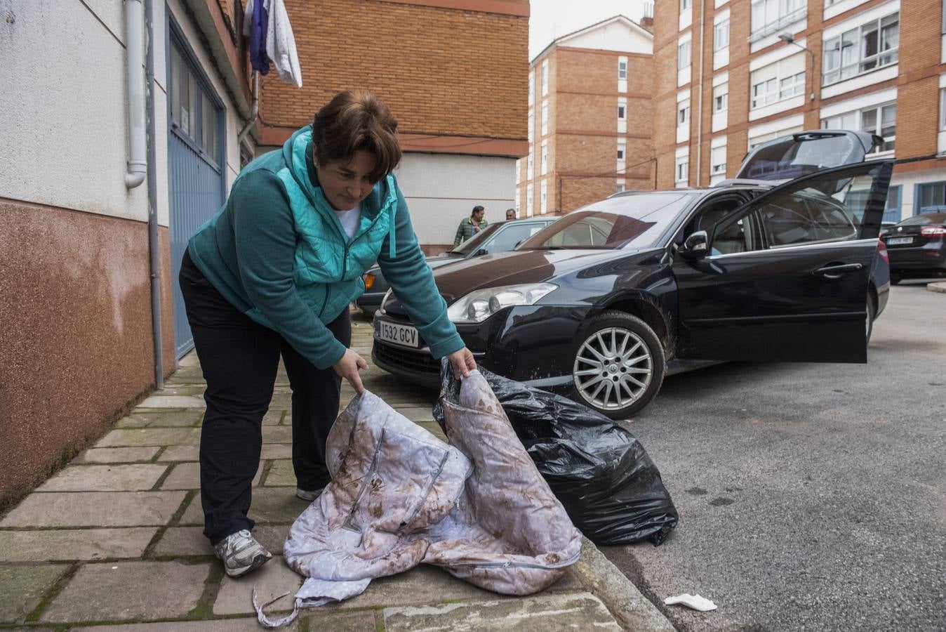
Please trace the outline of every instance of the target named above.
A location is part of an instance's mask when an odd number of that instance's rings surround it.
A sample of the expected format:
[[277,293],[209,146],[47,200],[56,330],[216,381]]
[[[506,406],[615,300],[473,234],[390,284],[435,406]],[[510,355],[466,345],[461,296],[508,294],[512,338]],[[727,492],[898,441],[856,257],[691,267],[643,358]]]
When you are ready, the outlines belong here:
[[[259,466],[263,415],[272,399],[280,355],[292,389],[292,466],[302,489],[330,480],[325,439],[339,413],[342,378],[317,369],[272,329],[255,323],[227,302],[184,254],[180,274],[187,322],[207,382],[201,429],[203,534],[217,544],[252,529],[251,484]],[[351,344],[348,311],[328,329]]]

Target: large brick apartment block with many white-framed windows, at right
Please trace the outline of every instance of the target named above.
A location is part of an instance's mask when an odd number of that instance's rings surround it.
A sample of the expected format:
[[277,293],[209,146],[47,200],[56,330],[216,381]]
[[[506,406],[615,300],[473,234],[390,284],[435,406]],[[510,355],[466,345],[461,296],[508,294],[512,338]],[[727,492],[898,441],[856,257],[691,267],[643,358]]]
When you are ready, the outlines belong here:
[[657,185],[713,184],[758,143],[844,128],[914,159],[895,169],[885,219],[946,204],[943,15],[942,0],[657,3]]

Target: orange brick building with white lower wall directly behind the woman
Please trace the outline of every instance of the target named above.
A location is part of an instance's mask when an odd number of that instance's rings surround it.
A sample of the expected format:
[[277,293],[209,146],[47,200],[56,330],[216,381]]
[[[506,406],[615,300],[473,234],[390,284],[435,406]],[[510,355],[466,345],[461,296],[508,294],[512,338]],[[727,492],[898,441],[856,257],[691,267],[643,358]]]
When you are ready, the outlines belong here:
[[529,0],[287,0],[303,87],[261,81],[260,150],[281,145],[345,88],[385,99],[405,150],[396,172],[428,252],[476,204],[513,205],[525,155]]

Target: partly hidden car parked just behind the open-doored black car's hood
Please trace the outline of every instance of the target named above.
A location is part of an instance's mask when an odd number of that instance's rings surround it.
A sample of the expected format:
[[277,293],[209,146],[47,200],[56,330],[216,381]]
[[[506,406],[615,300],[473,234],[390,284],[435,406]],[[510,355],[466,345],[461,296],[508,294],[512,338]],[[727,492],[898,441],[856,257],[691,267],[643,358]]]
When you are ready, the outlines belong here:
[[[466,239],[453,250],[449,250],[443,255],[427,257],[427,265],[430,266],[431,270],[436,270],[447,263],[454,263],[462,259],[491,253],[504,253],[515,248],[519,242],[532,237],[554,220],[555,218],[511,219],[489,224],[480,233]],[[381,306],[381,299],[384,298],[384,294],[391,286],[388,285],[384,274],[377,266],[365,272],[362,278],[365,292],[359,296],[355,305],[362,312],[371,316]]]

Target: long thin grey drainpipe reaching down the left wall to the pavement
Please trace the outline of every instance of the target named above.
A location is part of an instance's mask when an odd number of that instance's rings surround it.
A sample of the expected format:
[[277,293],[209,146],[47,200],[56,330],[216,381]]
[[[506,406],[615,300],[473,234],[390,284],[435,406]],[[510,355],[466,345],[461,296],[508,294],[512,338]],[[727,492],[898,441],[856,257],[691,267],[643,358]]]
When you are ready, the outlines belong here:
[[164,337],[161,329],[161,243],[158,240],[157,149],[154,135],[154,0],[145,0],[145,58],[148,133],[148,253],[151,276],[151,332],[154,344],[154,388],[165,388]]

